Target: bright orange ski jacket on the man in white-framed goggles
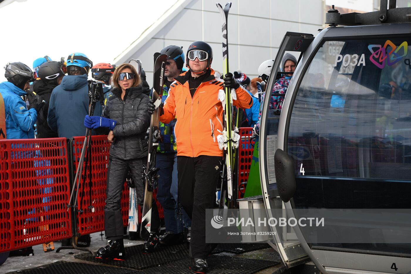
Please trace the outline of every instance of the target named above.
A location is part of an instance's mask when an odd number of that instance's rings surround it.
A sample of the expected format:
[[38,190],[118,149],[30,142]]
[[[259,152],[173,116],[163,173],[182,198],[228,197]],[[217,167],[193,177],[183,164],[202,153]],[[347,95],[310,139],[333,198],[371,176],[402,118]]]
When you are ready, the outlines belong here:
[[[214,77],[210,69],[209,77],[196,89],[191,97],[187,71],[175,78],[170,86],[169,96],[164,103],[164,114],[160,121],[169,123],[174,118],[177,155],[197,157],[200,155],[223,156],[219,149],[217,130],[223,131],[223,107],[218,99],[218,91],[224,89],[222,82]],[[241,86],[236,89],[237,100],[233,105],[243,109],[252,107],[253,99]]]

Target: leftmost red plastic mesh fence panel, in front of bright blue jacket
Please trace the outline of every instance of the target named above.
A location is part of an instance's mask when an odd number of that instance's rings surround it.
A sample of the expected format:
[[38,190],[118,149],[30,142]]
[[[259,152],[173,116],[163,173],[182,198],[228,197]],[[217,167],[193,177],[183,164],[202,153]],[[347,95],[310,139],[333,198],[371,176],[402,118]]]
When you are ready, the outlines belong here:
[[0,141],[0,252],[72,237],[65,138]]

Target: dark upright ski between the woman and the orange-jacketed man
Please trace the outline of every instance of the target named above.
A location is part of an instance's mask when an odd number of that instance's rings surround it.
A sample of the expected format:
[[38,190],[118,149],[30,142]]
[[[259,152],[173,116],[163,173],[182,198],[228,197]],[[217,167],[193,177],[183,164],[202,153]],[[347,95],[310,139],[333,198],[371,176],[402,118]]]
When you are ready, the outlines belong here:
[[151,206],[153,197],[153,185],[158,180],[157,170],[155,167],[155,153],[157,151],[158,141],[160,139],[159,131],[159,108],[161,104],[164,70],[166,68],[167,55],[154,54],[154,70],[153,70],[153,91],[152,100],[156,106],[155,111],[151,114],[150,128],[148,129],[148,158],[147,166],[143,171],[143,181],[145,182],[143,214],[141,217],[140,237],[148,238],[151,232]]

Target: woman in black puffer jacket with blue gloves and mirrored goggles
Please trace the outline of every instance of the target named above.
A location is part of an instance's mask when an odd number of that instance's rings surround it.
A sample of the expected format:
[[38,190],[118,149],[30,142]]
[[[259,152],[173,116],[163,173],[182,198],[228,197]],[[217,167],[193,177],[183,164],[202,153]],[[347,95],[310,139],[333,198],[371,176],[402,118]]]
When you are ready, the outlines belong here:
[[[96,258],[124,260],[121,192],[128,170],[131,171],[138,202],[143,207],[144,184],[141,178],[143,164],[147,163],[148,144],[144,140],[150,126],[147,112],[149,98],[142,93],[141,79],[132,65],[121,64],[113,74],[113,95],[103,111],[103,117],[86,116],[87,127],[109,128],[110,158],[107,171],[104,229],[109,244],[97,251]],[[153,200],[150,238],[144,244],[145,253],[153,251],[158,243],[160,220]]]

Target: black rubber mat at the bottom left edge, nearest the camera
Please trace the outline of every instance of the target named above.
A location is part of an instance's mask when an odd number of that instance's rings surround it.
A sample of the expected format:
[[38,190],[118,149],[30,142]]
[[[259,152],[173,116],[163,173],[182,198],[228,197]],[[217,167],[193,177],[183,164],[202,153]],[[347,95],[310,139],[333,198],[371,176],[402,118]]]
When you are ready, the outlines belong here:
[[82,262],[66,262],[58,261],[53,262],[52,264],[42,265],[40,267],[18,270],[16,272],[10,272],[9,274],[135,274],[135,271],[132,271],[127,268],[119,267],[109,267],[105,265],[91,265],[88,263]]

